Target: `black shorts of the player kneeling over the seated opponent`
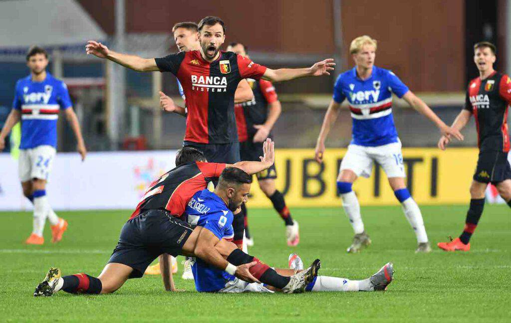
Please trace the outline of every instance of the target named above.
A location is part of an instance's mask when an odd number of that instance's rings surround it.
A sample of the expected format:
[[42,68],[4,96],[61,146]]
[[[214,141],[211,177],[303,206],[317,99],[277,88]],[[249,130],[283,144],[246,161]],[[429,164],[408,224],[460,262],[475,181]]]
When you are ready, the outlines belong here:
[[148,210],[126,222],[108,263],[133,268],[129,278],[140,278],[161,254],[181,254],[193,226],[164,210]]

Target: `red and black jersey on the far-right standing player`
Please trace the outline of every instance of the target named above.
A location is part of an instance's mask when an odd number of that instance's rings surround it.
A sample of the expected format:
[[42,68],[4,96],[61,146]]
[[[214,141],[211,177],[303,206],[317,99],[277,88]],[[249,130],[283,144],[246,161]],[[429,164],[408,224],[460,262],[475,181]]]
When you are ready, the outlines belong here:
[[511,79],[495,71],[484,80],[469,83],[464,109],[475,118],[480,151],[509,151],[507,109],[511,104]]

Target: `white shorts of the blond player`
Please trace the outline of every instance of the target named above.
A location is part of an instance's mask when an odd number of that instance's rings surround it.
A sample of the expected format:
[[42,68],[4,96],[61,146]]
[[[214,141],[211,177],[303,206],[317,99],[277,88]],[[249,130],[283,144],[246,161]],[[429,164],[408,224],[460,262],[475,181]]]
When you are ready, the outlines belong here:
[[401,142],[393,142],[383,146],[364,147],[350,144],[341,162],[340,170],[350,169],[357,176],[365,178],[371,175],[373,163],[378,163],[388,178],[406,177],[401,153]]

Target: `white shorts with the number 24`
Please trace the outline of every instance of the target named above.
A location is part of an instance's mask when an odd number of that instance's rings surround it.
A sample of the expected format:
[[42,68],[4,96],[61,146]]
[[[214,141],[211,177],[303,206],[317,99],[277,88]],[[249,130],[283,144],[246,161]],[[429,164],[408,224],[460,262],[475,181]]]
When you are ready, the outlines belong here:
[[50,145],[19,150],[19,180],[27,182],[34,178],[48,181],[52,170],[55,148]]

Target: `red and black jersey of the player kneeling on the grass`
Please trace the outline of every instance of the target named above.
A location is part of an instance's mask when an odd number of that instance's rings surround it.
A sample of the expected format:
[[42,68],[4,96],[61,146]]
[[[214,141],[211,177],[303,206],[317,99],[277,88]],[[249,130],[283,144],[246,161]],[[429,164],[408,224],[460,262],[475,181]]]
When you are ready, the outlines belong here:
[[193,194],[220,177],[224,168],[225,164],[194,162],[169,170],[149,185],[130,219],[143,211],[156,209],[180,217]]

